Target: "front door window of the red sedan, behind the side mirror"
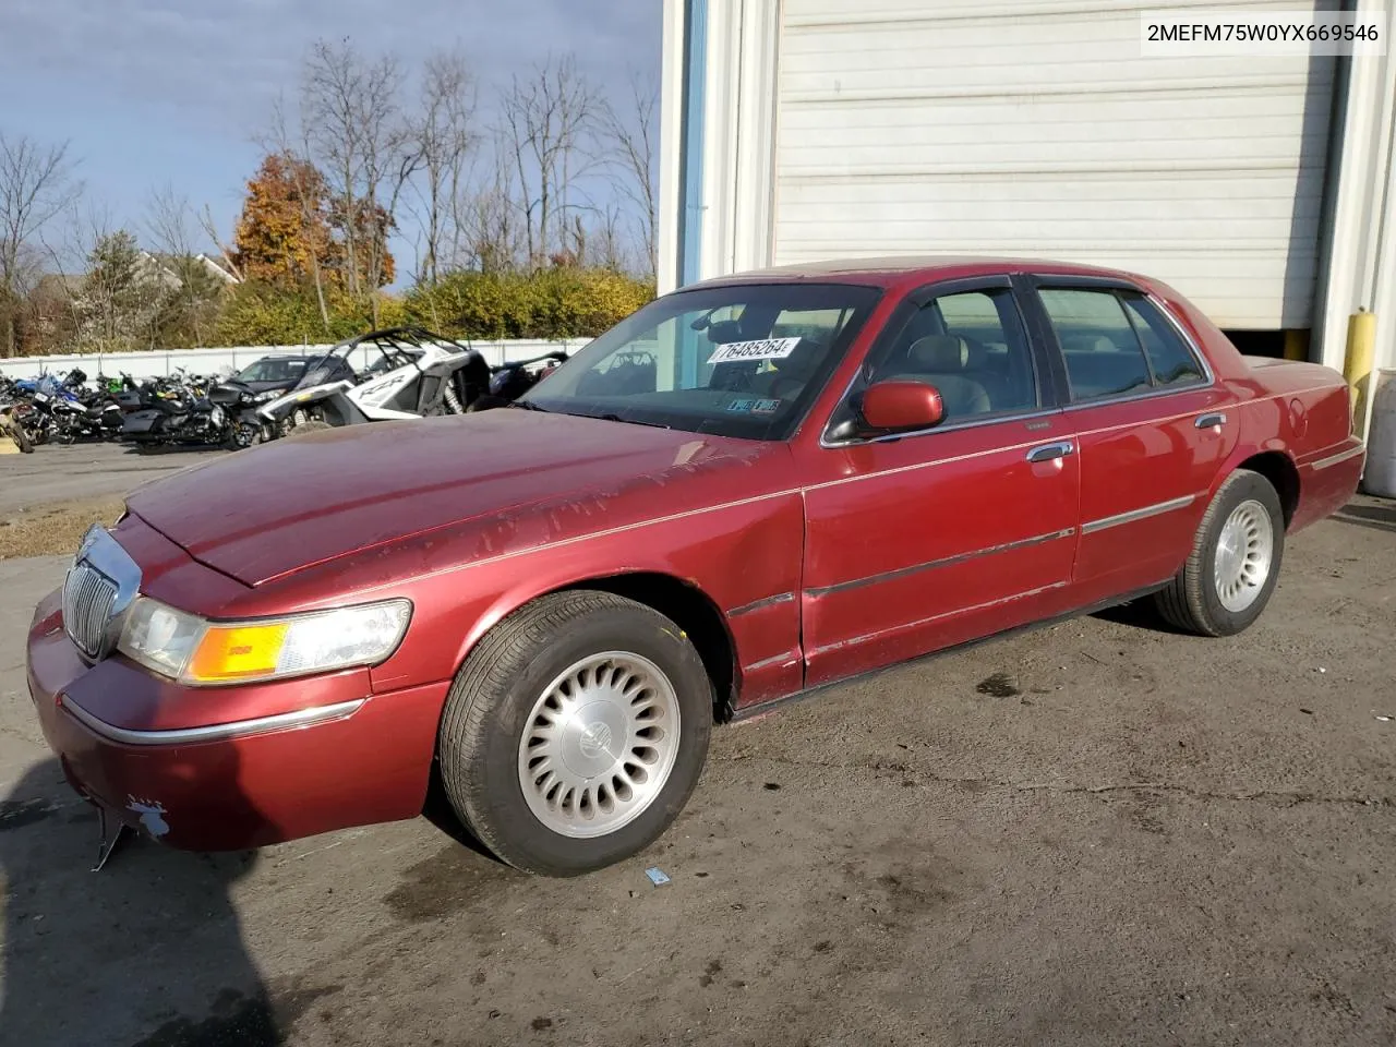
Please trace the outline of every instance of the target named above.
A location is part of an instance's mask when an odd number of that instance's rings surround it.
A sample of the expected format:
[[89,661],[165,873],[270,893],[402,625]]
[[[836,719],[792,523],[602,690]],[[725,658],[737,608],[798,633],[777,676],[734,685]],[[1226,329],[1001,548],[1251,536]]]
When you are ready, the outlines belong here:
[[948,420],[1040,405],[1032,350],[1008,288],[933,299],[892,341],[868,378],[934,385]]

